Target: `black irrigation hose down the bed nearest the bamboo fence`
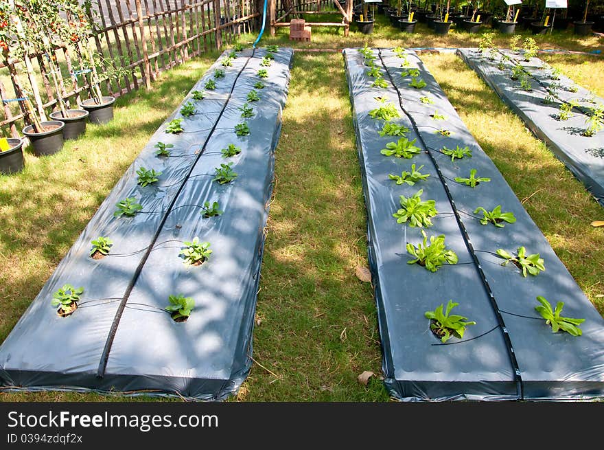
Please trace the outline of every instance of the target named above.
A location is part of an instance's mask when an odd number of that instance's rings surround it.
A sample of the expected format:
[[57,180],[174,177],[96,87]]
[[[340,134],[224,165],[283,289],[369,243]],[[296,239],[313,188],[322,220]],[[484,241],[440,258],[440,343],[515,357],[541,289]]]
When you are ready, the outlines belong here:
[[[189,169],[189,172],[187,174],[187,179],[188,179],[188,177],[191,176],[191,173],[193,173],[193,170],[194,170],[196,164],[198,163],[201,155],[203,155],[203,151],[205,150],[213,132],[218,129],[218,122],[220,122],[220,118],[222,117],[222,114],[224,114],[224,110],[227,109],[227,104],[229,104],[229,101],[231,100],[231,96],[233,95],[233,91],[235,90],[235,85],[237,84],[237,80],[239,79],[239,77],[241,76],[243,71],[246,69],[250,60],[254,57],[255,52],[256,52],[256,49],[253,49],[251,56],[248,56],[246,63],[243,65],[243,67],[240,69],[239,73],[233,80],[233,86],[231,86],[231,91],[229,92],[227,100],[224,102],[224,106],[222,106],[222,111],[220,111],[220,115],[218,115],[218,117],[216,117],[216,122],[214,123],[214,126],[211,128],[210,132],[208,133],[208,135],[205,139],[205,142],[203,143],[195,161],[193,162],[193,164],[191,164],[191,168]],[[132,293],[132,289],[134,289],[135,283],[137,282],[139,276],[141,275],[141,271],[143,271],[143,267],[149,258],[152,247],[153,247],[155,241],[157,240],[157,238],[159,238],[161,229],[163,228],[163,225],[165,225],[165,222],[167,221],[167,218],[170,215],[172,208],[176,204],[176,201],[178,200],[178,196],[181,194],[181,192],[185,188],[185,183],[187,182],[187,179],[185,179],[183,181],[183,184],[178,189],[178,192],[176,192],[176,194],[174,195],[174,199],[172,199],[170,206],[168,206],[163,218],[161,219],[161,222],[159,223],[159,226],[157,227],[155,234],[154,234],[153,238],[151,239],[151,243],[150,243],[148,249],[146,250],[145,254],[143,255],[143,258],[139,262],[139,265],[138,265],[134,275],[132,276],[132,279],[130,280],[130,282],[128,283],[128,286],[126,287],[126,292],[124,293],[124,297],[122,297],[122,300],[119,303],[119,306],[117,307],[115,317],[113,318],[113,323],[111,324],[111,328],[109,330],[109,335],[107,337],[107,340],[105,341],[105,347],[104,347],[102,355],[101,355],[101,360],[99,362],[99,367],[97,370],[98,378],[103,378],[103,376],[105,375],[105,369],[107,367],[109,352],[111,350],[111,346],[113,345],[113,339],[115,338],[115,333],[117,332],[117,325],[119,324],[119,319],[121,319],[122,313],[124,313],[124,308],[126,307],[126,302],[128,302],[130,293]]]

